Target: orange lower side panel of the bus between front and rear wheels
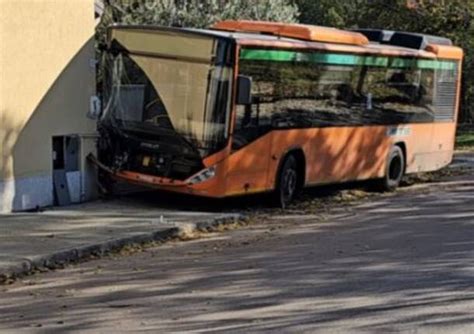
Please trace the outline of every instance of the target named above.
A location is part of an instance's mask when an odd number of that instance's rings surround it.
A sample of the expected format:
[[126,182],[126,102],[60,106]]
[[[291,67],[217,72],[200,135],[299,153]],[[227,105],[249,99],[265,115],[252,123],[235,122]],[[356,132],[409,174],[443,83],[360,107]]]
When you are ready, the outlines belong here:
[[[306,157],[307,184],[377,178],[384,174],[391,147],[386,133],[386,127],[278,131],[272,155],[279,161],[289,149],[301,147]],[[274,184],[277,166],[277,161],[270,162],[269,183]]]

